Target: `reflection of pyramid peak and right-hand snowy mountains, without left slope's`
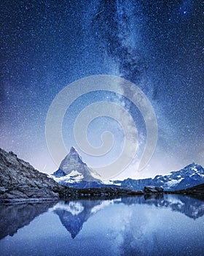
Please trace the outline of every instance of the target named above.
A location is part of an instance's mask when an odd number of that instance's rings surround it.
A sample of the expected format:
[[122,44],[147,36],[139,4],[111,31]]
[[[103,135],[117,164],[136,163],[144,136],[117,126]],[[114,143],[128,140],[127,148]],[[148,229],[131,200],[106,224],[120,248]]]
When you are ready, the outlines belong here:
[[145,195],[145,197],[122,197],[112,200],[60,201],[53,207],[60,222],[72,238],[82,230],[83,224],[97,211],[111,204],[123,203],[127,206],[148,204],[158,208],[171,208],[187,217],[197,219],[204,215],[204,201],[182,195]]

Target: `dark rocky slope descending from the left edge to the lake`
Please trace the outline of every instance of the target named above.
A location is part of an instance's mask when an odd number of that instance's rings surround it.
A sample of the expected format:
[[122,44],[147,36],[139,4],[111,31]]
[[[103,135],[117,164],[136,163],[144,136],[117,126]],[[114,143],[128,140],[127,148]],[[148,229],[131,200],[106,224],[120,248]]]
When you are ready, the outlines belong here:
[[0,148],[0,201],[58,200],[59,184]]

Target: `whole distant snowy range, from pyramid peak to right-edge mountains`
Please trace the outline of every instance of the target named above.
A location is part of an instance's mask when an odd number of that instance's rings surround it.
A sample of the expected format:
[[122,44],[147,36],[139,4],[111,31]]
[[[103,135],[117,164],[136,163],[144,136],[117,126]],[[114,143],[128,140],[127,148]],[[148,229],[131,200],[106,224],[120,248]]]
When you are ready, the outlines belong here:
[[71,147],[69,154],[63,159],[60,167],[50,178],[61,185],[75,188],[88,187],[122,187],[133,190],[143,190],[145,186],[162,187],[165,190],[180,190],[194,187],[204,183],[204,169],[194,162],[181,170],[172,171],[170,174],[154,178],[132,179],[124,181],[101,181],[101,176],[95,170],[87,167],[76,149]]

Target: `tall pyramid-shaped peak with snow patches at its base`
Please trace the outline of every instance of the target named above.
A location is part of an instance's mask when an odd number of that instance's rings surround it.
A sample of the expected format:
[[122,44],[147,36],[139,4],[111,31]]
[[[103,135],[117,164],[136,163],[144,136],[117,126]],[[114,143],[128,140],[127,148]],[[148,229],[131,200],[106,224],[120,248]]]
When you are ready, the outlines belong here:
[[95,170],[87,167],[82,157],[74,147],[71,147],[69,154],[63,159],[58,170],[50,175],[59,184],[69,187],[90,187],[102,184],[101,176]]

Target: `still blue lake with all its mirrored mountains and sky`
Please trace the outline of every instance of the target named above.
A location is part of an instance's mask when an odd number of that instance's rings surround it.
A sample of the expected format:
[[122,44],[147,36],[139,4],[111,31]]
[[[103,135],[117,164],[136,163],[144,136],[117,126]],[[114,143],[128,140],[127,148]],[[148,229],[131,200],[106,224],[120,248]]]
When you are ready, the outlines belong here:
[[204,255],[204,200],[181,195],[0,206],[0,255]]

